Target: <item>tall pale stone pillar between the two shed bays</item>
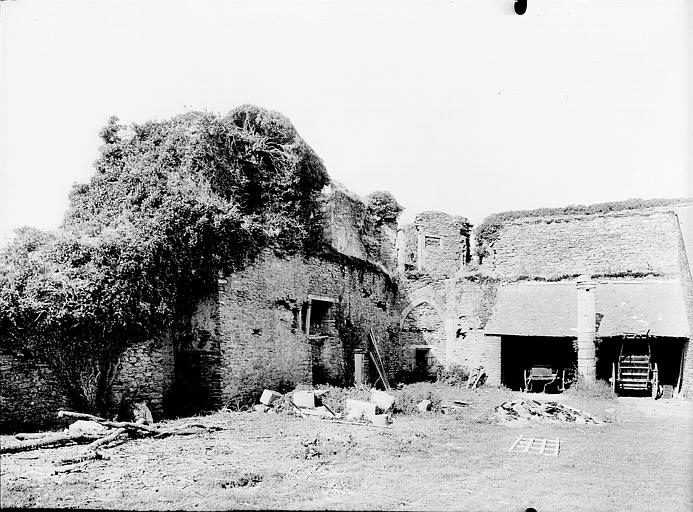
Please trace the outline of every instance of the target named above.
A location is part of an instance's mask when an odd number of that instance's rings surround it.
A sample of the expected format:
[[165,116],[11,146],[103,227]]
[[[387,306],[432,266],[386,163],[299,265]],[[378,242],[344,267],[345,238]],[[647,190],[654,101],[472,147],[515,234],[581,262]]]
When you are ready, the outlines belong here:
[[596,358],[594,340],[597,318],[597,283],[590,276],[577,278],[577,334],[578,334],[578,373],[586,380],[594,382]]

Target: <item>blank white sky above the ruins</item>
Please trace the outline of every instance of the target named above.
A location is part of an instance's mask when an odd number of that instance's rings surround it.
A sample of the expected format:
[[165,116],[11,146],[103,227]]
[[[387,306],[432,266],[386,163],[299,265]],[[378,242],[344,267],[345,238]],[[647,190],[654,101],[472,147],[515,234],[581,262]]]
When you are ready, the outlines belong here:
[[513,3],[2,2],[0,242],[60,223],[110,115],[242,103],[405,220],[692,196],[686,2]]

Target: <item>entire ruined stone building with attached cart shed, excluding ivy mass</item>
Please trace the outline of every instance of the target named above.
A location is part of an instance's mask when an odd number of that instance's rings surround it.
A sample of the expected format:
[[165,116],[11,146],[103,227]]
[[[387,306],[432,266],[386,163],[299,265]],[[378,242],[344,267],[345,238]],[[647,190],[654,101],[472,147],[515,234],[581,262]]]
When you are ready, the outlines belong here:
[[[364,209],[333,187],[325,251],[266,252],[219,275],[186,329],[122,355],[113,403],[146,400],[156,419],[233,405],[262,387],[350,385],[357,374],[373,383],[370,329],[390,380],[483,366],[487,385],[513,389],[533,364],[606,379],[619,340],[647,336],[661,382],[690,394],[691,204],[520,216],[481,263],[469,222],[440,212],[383,226],[374,256]],[[0,371],[0,428],[50,425],[66,404],[48,365],[5,353]]]

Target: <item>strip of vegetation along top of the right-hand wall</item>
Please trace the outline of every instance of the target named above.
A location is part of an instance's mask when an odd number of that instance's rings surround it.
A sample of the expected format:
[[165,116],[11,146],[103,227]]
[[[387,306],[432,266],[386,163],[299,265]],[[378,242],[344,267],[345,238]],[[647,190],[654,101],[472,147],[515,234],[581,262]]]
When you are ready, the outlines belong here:
[[559,217],[565,215],[596,215],[625,210],[644,210],[658,206],[674,206],[693,202],[693,198],[676,199],[627,199],[591,205],[569,205],[558,208],[537,208],[536,210],[513,210],[494,213],[486,217],[475,229],[477,254],[481,257],[488,252],[488,247],[496,242],[503,226],[517,219],[531,217]]

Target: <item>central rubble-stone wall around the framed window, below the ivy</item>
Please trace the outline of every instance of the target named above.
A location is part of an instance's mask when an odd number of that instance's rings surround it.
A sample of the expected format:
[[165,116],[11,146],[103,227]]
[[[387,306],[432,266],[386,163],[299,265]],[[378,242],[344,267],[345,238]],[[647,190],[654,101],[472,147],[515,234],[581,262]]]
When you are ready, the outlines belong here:
[[[339,256],[335,256],[339,258]],[[250,268],[226,277],[219,286],[219,341],[223,400],[244,389],[311,383],[314,344],[303,331],[309,295],[334,299],[337,316],[350,325],[355,339],[323,341],[319,356],[337,375],[353,365],[353,349],[366,346],[372,326],[389,374],[401,367],[396,330],[395,289],[388,277],[362,262],[312,257],[288,259],[265,255]],[[320,342],[318,342],[320,343]],[[339,350],[341,348],[341,350]],[[348,383],[350,384],[350,383]]]

